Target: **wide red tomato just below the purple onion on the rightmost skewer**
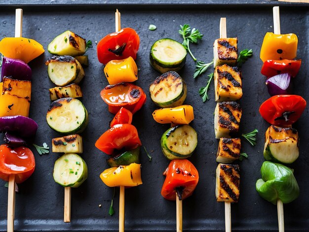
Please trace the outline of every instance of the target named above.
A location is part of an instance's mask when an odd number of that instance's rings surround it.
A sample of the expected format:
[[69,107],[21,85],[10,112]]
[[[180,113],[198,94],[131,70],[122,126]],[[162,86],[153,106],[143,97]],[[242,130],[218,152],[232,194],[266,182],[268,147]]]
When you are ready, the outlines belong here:
[[306,104],[298,95],[276,95],[262,103],[260,114],[272,125],[292,125],[302,115]]

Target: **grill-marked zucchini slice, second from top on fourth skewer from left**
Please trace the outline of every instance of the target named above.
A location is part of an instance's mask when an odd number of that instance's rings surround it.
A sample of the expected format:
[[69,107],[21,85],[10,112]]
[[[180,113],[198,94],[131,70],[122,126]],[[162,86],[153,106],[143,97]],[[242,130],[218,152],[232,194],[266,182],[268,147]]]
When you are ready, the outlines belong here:
[[156,77],[149,91],[154,104],[162,108],[181,106],[187,97],[187,85],[174,71]]

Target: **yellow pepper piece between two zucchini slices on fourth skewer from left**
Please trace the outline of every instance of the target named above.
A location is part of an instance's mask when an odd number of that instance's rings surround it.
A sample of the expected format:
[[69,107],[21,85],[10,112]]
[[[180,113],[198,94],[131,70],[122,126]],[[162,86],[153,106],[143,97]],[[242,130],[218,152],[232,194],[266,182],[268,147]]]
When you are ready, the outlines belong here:
[[154,111],[153,117],[156,122],[161,124],[189,124],[194,119],[193,107],[183,105],[174,108],[159,109]]

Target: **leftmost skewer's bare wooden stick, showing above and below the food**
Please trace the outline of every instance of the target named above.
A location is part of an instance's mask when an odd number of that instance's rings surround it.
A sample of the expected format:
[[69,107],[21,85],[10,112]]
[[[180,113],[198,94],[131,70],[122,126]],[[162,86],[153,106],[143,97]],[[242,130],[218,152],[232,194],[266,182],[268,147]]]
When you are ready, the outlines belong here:
[[[23,10],[15,10],[15,37],[21,37],[23,30]],[[15,175],[11,174],[8,180],[7,193],[7,232],[14,232],[15,218]]]

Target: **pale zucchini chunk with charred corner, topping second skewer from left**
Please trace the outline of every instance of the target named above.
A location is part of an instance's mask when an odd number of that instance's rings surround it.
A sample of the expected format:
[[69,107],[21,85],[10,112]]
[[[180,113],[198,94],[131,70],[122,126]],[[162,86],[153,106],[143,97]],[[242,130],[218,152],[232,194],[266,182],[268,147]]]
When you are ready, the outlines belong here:
[[77,34],[66,31],[53,39],[47,47],[49,53],[58,56],[79,56],[86,51],[86,40]]

